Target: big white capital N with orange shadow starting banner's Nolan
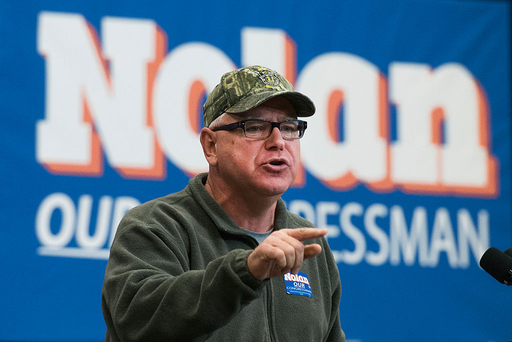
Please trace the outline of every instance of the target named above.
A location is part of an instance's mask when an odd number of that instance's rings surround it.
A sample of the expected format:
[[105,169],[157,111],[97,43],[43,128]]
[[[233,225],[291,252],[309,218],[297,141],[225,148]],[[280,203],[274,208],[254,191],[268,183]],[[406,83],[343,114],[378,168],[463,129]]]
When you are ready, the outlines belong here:
[[157,56],[157,49],[163,54],[162,34],[152,20],[107,17],[101,27],[110,74],[83,16],[42,12],[38,17],[37,50],[46,59],[47,94],[45,119],[36,127],[37,160],[55,173],[98,175],[101,139],[123,176],[161,178],[147,84],[162,58]]

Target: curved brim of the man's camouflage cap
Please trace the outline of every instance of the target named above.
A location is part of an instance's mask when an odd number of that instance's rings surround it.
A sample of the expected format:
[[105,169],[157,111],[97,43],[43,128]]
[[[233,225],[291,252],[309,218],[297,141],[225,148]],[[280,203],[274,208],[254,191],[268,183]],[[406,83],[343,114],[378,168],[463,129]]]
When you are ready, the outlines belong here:
[[225,112],[243,113],[276,96],[285,96],[290,100],[297,117],[308,117],[315,114],[315,105],[313,104],[313,101],[311,101],[311,99],[306,95],[295,91],[268,91],[249,95],[230,106]]

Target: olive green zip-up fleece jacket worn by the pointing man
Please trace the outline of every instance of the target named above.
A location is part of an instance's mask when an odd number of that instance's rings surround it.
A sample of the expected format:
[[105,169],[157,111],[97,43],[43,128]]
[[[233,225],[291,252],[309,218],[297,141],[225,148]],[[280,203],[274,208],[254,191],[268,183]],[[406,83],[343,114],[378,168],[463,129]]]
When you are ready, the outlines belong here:
[[[105,341],[344,341],[341,285],[325,239],[305,260],[312,297],[286,293],[283,276],[255,279],[258,245],[211,198],[207,174],[139,205],[121,220],[101,293]],[[274,229],[313,227],[280,199]]]

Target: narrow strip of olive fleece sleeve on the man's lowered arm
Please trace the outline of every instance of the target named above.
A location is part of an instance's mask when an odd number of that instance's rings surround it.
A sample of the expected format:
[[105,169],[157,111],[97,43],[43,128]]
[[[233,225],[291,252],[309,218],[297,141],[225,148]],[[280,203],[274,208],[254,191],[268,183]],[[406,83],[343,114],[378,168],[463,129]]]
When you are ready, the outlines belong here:
[[339,322],[339,301],[342,295],[342,284],[339,278],[338,267],[332,255],[331,249],[325,239],[322,249],[325,250],[327,264],[329,265],[329,276],[332,289],[331,319],[329,320],[330,331],[325,339],[326,341],[345,342],[345,332],[342,330]]

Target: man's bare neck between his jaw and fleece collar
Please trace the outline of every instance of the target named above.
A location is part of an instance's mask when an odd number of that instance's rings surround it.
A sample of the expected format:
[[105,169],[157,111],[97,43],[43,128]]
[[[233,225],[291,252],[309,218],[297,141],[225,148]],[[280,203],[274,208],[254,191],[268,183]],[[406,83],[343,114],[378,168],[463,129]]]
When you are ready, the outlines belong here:
[[262,197],[254,194],[241,194],[221,189],[208,176],[206,191],[226,211],[227,215],[240,227],[258,233],[272,229],[275,206],[280,196]]

